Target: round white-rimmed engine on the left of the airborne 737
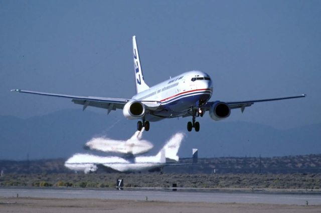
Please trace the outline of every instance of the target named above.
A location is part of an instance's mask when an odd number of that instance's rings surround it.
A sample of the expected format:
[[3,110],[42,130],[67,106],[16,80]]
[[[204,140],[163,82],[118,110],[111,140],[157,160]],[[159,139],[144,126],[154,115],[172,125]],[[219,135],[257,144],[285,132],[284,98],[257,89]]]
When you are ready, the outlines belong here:
[[145,115],[145,106],[140,101],[128,101],[122,110],[122,113],[127,119],[137,119]]

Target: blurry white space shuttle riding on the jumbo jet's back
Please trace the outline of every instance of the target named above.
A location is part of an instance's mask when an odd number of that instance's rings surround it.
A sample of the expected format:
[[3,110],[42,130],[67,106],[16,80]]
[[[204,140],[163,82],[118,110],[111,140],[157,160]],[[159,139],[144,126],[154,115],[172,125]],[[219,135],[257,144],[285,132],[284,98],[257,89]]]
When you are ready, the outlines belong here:
[[85,148],[104,152],[123,153],[127,155],[142,154],[149,151],[153,147],[151,142],[141,139],[143,130],[144,128],[142,128],[141,131],[137,130],[127,140],[95,137],[86,142]]

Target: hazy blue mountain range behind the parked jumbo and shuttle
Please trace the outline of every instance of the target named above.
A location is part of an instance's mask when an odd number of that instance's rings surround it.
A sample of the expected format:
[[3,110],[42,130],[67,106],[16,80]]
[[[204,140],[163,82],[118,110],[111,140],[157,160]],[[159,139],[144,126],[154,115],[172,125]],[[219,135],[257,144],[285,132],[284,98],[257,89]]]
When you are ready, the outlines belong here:
[[[206,114],[207,115],[207,114]],[[201,130],[188,132],[189,118],[151,122],[143,138],[151,141],[155,154],[176,132],[185,132],[180,157],[285,156],[321,153],[321,123],[291,129],[243,121],[216,122],[200,118]],[[121,111],[109,115],[96,111],[65,109],[22,119],[0,116],[0,159],[48,159],[88,152],[83,145],[94,136],[127,139],[136,131],[137,120],[126,120]],[[107,153],[100,152],[101,155]],[[111,155],[108,153],[108,155]]]

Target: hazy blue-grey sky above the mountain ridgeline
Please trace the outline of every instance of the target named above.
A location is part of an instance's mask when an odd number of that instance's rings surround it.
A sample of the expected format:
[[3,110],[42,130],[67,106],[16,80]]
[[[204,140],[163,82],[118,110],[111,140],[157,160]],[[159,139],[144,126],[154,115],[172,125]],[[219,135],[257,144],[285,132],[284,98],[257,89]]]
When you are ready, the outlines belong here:
[[131,97],[136,35],[149,85],[202,70],[214,80],[211,100],[308,95],[233,110],[227,121],[276,128],[321,122],[319,0],[2,0],[0,30],[0,115],[81,109],[12,88]]

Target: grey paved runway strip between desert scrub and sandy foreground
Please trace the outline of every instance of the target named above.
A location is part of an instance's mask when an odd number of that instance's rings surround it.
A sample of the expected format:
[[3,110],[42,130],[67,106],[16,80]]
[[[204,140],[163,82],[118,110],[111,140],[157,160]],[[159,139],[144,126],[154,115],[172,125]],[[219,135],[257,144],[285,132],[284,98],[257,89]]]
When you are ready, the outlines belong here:
[[95,198],[207,203],[321,204],[321,193],[116,190],[79,188],[0,188],[4,197]]

